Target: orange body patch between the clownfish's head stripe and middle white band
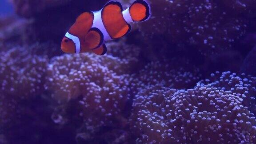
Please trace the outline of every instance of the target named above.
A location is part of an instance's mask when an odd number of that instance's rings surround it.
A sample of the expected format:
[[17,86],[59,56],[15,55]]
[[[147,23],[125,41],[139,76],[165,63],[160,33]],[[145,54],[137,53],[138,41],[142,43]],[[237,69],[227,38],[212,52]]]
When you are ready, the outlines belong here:
[[84,33],[87,33],[92,28],[93,20],[93,12],[83,12],[76,18],[76,22],[69,29],[69,32],[77,36],[83,36]]

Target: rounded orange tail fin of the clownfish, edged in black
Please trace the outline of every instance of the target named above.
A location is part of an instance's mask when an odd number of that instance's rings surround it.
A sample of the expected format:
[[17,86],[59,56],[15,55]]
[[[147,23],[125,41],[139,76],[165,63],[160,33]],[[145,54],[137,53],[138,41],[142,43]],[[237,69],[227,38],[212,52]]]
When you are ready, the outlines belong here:
[[151,14],[150,5],[145,0],[136,0],[129,8],[133,21],[148,20]]

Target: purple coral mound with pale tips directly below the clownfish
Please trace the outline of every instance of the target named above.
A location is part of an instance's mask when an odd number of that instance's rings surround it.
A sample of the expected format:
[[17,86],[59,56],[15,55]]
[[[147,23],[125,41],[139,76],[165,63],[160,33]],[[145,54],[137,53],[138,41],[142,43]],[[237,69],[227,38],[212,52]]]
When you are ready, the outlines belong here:
[[93,130],[122,115],[130,96],[127,64],[128,60],[110,55],[57,56],[48,66],[46,88],[60,103],[79,101],[80,116]]

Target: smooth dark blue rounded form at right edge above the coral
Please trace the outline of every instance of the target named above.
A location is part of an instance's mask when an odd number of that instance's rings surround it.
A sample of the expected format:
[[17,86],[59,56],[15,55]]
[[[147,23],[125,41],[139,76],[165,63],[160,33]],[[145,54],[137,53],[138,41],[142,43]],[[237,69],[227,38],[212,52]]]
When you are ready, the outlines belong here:
[[254,47],[248,56],[244,59],[244,63],[240,69],[240,72],[256,76],[256,47]]

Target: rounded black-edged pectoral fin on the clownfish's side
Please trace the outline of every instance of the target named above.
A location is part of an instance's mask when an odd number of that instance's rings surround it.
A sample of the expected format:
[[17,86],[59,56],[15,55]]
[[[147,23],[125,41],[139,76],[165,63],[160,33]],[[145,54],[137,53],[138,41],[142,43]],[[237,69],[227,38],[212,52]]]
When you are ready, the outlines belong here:
[[103,33],[98,28],[91,28],[84,37],[85,47],[95,49],[102,45],[104,40]]

